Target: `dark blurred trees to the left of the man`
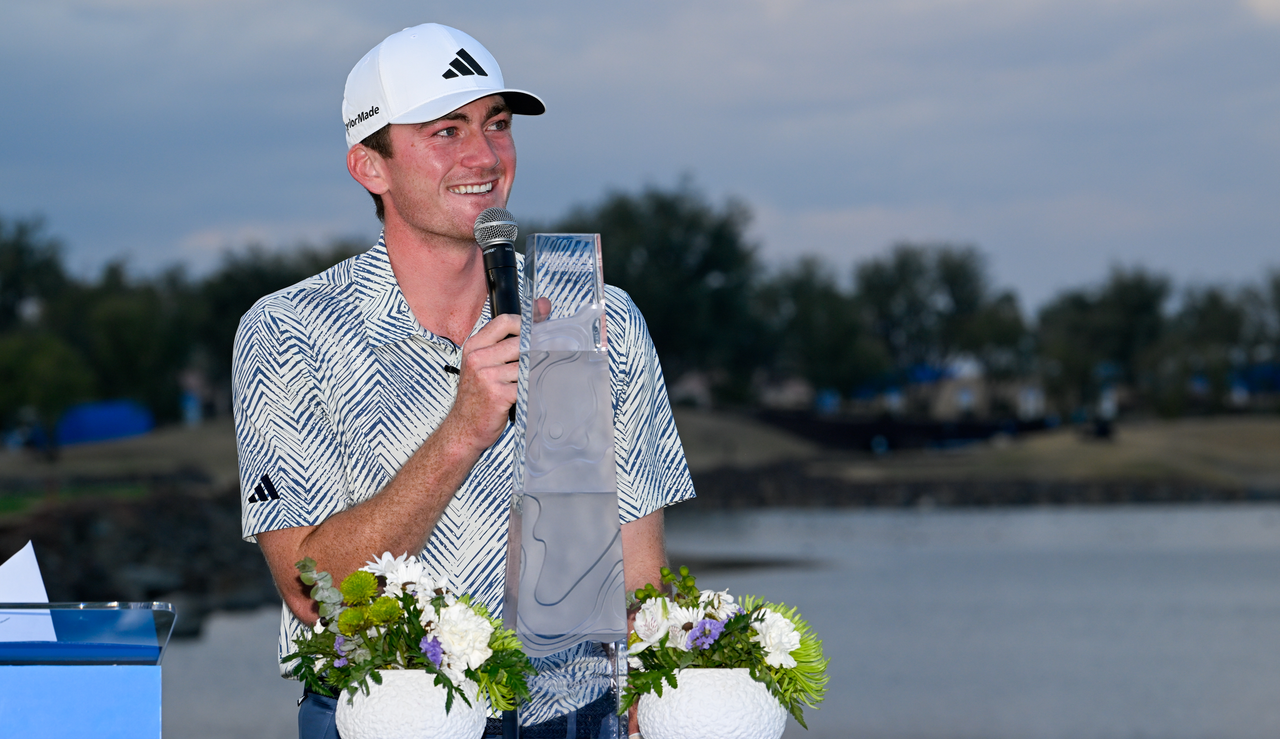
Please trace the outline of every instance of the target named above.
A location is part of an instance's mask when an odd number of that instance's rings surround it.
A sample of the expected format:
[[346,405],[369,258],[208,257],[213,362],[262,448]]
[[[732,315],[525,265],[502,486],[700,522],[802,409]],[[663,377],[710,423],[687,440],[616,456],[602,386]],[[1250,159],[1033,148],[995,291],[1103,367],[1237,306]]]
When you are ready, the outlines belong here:
[[211,411],[228,411],[239,316],[362,248],[251,246],[225,254],[201,279],[182,268],[134,277],[120,261],[77,279],[38,219],[0,219],[0,430],[52,429],[74,403],[116,398],[174,421],[192,384],[202,386]]

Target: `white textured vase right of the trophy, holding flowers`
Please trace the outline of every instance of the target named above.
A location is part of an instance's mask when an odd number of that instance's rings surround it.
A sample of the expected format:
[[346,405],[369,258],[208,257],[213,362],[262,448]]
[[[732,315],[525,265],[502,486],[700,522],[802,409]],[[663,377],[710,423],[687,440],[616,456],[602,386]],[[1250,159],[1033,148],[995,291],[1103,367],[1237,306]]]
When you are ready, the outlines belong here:
[[778,739],[786,729],[786,708],[746,667],[686,667],[676,683],[640,698],[644,739]]

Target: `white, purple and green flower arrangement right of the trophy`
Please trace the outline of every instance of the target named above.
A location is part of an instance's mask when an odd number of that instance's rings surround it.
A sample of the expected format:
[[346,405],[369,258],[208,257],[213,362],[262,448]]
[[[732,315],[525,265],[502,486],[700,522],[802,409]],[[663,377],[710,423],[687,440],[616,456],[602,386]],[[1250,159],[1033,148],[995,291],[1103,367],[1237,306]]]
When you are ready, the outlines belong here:
[[795,720],[827,693],[827,660],[822,642],[795,608],[751,596],[735,602],[728,590],[699,590],[689,567],[680,575],[662,569],[669,593],[645,585],[627,640],[627,688],[621,711],[645,693],[662,695],[663,684],[677,686],[685,667],[746,667]]

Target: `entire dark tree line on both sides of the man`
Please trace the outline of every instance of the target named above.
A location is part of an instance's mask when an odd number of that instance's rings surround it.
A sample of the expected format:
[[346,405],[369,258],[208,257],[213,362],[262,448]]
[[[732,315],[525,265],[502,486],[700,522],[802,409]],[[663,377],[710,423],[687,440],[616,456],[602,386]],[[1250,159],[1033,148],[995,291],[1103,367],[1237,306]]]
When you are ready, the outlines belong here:
[[[723,405],[751,405],[788,378],[865,397],[936,378],[957,357],[993,382],[1039,383],[1062,415],[1107,387],[1166,415],[1224,410],[1242,383],[1275,389],[1280,273],[1175,291],[1164,275],[1116,268],[1028,318],[973,246],[900,243],[851,266],[806,256],[767,270],[750,216],[686,182],[612,192],[526,232],[600,233],[605,280],[644,311],[668,383],[696,373]],[[51,428],[69,405],[105,398],[173,421],[192,378],[225,412],[239,316],[364,248],[250,246],[198,279],[180,268],[131,275],[123,263],[83,279],[41,222],[0,218],[0,429]]]

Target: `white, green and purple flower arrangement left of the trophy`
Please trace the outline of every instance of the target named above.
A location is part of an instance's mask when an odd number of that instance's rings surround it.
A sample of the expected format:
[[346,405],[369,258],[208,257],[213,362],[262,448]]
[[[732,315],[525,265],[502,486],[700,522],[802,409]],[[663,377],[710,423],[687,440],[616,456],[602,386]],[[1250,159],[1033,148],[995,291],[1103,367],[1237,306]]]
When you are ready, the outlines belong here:
[[[445,710],[461,697],[463,679],[479,686],[495,711],[511,711],[529,698],[526,678],[536,674],[516,633],[503,629],[484,603],[453,594],[421,561],[384,553],[333,587],[329,573],[310,557],[297,565],[320,619],[294,639],[285,657],[292,674],[311,690],[335,697],[369,694],[379,670],[424,670],[444,688]],[[348,698],[349,701],[351,698]]]

